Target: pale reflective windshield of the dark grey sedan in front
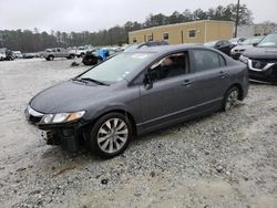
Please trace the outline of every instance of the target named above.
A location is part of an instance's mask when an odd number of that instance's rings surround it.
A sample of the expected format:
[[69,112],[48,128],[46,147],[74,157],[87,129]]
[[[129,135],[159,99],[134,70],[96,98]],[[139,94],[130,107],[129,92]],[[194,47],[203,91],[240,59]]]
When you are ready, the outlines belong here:
[[96,65],[79,79],[93,79],[103,83],[116,83],[133,72],[142,63],[150,60],[154,53],[121,53]]

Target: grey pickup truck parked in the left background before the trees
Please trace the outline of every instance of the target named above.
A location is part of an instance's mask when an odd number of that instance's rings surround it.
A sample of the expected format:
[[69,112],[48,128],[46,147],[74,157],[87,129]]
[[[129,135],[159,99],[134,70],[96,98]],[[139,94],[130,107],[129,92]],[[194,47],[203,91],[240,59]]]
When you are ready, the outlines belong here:
[[75,58],[75,53],[73,53],[72,51],[68,51],[63,48],[47,49],[42,55],[47,61],[52,61],[55,58]]

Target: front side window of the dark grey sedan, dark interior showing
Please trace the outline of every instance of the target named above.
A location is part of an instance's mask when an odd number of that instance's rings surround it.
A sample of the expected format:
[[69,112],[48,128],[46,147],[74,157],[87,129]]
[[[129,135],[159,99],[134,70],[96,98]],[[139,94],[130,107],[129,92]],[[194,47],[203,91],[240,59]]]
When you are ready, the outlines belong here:
[[164,80],[188,73],[187,52],[174,53],[154,63],[151,69],[152,81]]

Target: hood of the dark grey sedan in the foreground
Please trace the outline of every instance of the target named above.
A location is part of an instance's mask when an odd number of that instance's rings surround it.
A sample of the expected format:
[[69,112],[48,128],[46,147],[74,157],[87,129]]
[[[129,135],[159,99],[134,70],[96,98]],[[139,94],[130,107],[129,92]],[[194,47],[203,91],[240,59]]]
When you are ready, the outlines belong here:
[[106,97],[112,89],[112,85],[66,81],[37,94],[30,101],[30,106],[43,114],[82,111],[93,105],[93,102],[99,102],[100,97]]

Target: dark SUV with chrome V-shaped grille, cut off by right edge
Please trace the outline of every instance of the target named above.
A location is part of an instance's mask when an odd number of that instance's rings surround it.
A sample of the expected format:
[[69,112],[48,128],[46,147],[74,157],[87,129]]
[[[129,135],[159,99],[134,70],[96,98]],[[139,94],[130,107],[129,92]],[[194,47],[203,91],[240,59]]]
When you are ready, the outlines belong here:
[[277,84],[277,33],[266,35],[239,60],[247,64],[252,81]]

